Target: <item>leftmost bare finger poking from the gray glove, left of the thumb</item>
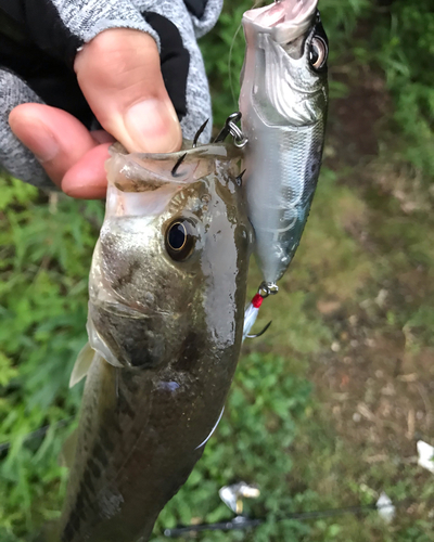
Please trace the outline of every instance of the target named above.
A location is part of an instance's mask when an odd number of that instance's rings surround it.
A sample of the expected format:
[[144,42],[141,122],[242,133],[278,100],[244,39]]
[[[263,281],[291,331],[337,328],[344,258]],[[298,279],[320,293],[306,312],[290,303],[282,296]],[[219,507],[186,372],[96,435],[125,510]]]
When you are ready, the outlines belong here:
[[49,105],[18,105],[9,124],[58,186],[66,171],[98,144],[79,120]]

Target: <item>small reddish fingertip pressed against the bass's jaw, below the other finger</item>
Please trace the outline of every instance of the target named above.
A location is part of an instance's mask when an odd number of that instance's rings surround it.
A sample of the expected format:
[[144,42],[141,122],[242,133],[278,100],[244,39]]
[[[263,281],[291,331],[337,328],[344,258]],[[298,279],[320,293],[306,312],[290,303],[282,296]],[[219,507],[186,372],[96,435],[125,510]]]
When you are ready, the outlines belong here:
[[105,197],[107,178],[104,163],[112,143],[103,143],[88,151],[63,177],[62,190],[72,197],[101,199]]

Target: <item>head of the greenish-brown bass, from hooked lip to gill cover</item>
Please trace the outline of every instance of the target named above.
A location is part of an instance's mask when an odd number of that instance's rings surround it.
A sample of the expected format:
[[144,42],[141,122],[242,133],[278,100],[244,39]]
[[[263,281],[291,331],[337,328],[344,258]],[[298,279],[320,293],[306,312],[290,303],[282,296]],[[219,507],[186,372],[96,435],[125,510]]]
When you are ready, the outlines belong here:
[[196,339],[241,340],[251,230],[231,152],[112,152],[88,331],[113,365],[158,367]]

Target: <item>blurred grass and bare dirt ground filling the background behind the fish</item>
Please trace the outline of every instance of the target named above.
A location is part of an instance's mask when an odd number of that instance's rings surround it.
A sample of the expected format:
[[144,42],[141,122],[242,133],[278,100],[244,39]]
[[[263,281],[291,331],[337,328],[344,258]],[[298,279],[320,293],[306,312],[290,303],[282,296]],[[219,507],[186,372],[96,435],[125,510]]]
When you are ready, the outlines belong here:
[[[388,105],[376,156],[348,160],[336,139],[340,119],[330,116],[333,158],[281,293],[257,323],[272,320],[271,328],[244,346],[224,420],[162,513],[155,540],[179,522],[229,518],[218,489],[241,479],[260,487],[246,506],[266,525],[196,540],[433,540],[432,475],[411,457],[417,438],[433,443],[434,18],[427,0],[379,3],[320,2],[332,98],[352,100],[360,74],[383,83]],[[231,5],[202,40],[218,126],[235,108],[231,85],[237,95],[244,46],[242,31],[233,36],[250,2]],[[72,426],[54,424],[79,408],[82,387],[67,383],[86,341],[87,276],[103,206],[49,198],[5,177],[0,192],[0,442],[11,442],[0,451],[0,540],[29,542],[59,516],[65,491],[58,456]],[[250,294],[258,281],[253,266]],[[416,379],[401,378],[408,375]],[[44,438],[25,440],[46,425]],[[371,503],[383,490],[413,501],[391,526],[374,512],[277,521]]]

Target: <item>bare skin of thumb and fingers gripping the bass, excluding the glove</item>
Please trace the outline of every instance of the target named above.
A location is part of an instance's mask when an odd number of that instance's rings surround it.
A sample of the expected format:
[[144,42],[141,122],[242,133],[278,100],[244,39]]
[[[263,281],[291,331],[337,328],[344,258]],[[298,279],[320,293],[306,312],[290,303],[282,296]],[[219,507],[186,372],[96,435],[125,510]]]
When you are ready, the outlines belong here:
[[180,149],[181,128],[150,35],[129,28],[105,30],[82,47],[74,69],[104,130],[89,131],[69,113],[44,104],[22,104],[9,116],[14,134],[66,194],[104,197],[104,162],[115,140],[129,152]]

